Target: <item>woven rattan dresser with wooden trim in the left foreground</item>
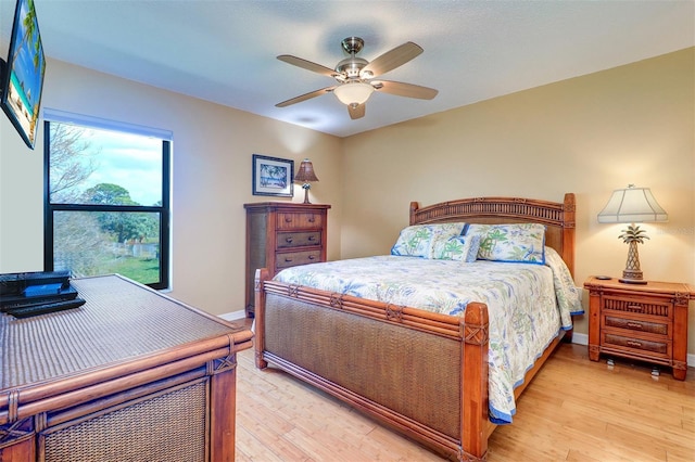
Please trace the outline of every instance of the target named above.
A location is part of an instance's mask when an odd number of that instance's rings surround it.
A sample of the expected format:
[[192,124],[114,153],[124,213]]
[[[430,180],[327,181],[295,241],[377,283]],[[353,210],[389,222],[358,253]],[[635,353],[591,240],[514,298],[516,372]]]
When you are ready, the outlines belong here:
[[236,354],[252,333],[130,280],[0,313],[0,461],[233,461]]

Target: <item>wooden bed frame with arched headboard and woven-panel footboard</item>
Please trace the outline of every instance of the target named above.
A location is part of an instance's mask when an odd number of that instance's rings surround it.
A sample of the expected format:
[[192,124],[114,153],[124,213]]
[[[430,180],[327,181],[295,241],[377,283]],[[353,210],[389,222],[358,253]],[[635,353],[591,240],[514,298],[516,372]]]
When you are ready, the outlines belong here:
[[[420,208],[410,224],[540,222],[573,274],[574,195],[563,203],[479,197]],[[256,367],[268,362],[451,459],[486,459],[488,307],[465,317],[255,278]],[[528,372],[518,397],[560,337]]]

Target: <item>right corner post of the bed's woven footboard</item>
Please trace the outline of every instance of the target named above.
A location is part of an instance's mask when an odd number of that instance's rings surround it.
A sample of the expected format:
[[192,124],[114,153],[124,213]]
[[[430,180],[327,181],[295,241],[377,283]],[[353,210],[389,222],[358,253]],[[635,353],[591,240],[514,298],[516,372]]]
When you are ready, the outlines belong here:
[[463,323],[462,461],[486,458],[488,452],[488,306],[470,303]]

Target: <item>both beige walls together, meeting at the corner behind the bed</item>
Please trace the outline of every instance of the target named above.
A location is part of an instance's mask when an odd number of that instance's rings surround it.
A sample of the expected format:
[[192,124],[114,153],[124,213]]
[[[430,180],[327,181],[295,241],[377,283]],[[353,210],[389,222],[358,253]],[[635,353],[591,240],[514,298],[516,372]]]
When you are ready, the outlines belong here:
[[[620,273],[621,227],[596,214],[614,189],[646,185],[670,221],[645,224],[645,278],[695,284],[694,57],[688,49],[344,140],[55,61],[43,105],[174,132],[172,295],[212,313],[242,309],[242,204],[271,200],[251,194],[253,153],[312,158],[312,202],[332,205],[329,259],[388,253],[410,201],[574,192],[578,285]],[[42,269],[42,131],[29,151],[0,117],[0,272]],[[695,354],[693,306],[690,319]]]

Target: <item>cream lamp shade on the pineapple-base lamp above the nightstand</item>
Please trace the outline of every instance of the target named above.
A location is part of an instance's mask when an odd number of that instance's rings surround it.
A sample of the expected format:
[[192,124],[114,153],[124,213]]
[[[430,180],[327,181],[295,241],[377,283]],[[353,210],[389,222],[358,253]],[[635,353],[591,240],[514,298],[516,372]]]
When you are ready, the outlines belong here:
[[615,190],[608,204],[598,214],[599,223],[636,223],[645,221],[668,221],[669,216],[656,202],[648,188],[628,185]]

